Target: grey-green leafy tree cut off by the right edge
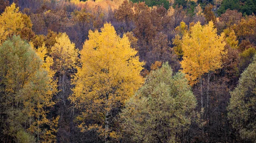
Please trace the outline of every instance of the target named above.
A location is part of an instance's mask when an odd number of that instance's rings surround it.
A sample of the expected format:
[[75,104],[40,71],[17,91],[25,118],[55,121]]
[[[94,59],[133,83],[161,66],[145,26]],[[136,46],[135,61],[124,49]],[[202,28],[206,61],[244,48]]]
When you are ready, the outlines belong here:
[[246,142],[256,140],[256,57],[241,74],[236,89],[230,92],[230,103],[227,107],[228,118],[233,128],[239,131],[239,136]]

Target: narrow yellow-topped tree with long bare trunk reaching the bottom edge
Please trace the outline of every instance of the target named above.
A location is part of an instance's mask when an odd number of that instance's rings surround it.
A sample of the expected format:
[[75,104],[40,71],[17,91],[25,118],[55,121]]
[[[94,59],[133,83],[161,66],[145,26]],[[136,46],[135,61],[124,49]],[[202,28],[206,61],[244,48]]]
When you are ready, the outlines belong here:
[[[52,39],[56,35],[55,40]],[[73,117],[71,114],[73,111],[73,104],[70,104],[69,97],[72,94],[71,78],[76,72],[76,67],[79,65],[78,50],[75,48],[75,44],[70,41],[66,33],[56,34],[49,31],[47,34],[48,45],[54,44],[47,51],[50,51],[50,55],[54,61],[52,69],[56,71],[55,78],[58,78],[58,93],[55,98],[58,99],[56,103],[55,111],[57,115],[60,115],[59,132],[58,135],[65,135],[64,142],[73,142]]]

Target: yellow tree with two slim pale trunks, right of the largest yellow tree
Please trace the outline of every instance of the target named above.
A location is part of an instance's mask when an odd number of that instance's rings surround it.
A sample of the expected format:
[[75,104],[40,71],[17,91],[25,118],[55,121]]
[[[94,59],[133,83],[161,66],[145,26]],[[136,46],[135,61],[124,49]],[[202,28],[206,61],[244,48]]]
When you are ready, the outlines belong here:
[[207,108],[209,109],[209,80],[211,72],[221,68],[221,59],[225,54],[224,34],[216,34],[217,29],[213,28],[213,22],[202,26],[197,22],[186,33],[182,39],[183,61],[181,61],[182,72],[193,85],[200,79],[201,84],[201,107],[203,108],[202,76],[207,76]]

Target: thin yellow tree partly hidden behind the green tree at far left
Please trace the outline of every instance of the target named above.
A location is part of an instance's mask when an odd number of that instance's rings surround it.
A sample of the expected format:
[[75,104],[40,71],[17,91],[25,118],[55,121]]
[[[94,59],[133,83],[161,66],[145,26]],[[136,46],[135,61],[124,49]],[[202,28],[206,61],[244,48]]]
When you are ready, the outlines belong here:
[[[31,47],[34,48],[33,44],[30,43]],[[47,84],[49,87],[51,87],[50,90],[47,90],[46,93],[39,95],[41,96],[41,98],[45,98],[45,95],[50,95],[48,96],[48,101],[50,101],[50,99],[52,98],[53,94],[57,93],[57,83],[56,81],[53,79],[54,75],[55,75],[55,71],[52,70],[51,66],[53,65],[53,59],[50,56],[47,56],[47,47],[45,47],[44,43],[41,47],[38,47],[37,49],[34,48],[35,53],[39,56],[39,58],[42,61],[41,67],[47,71],[48,75],[47,75]],[[55,104],[54,102],[51,103],[46,103],[49,106],[52,106],[53,104]],[[37,120],[35,123],[32,124],[32,126],[29,128],[29,130],[31,132],[37,133],[37,138],[39,140],[39,134],[41,133],[41,138],[43,139],[41,142],[42,143],[52,143],[52,142],[56,142],[56,136],[54,135],[57,132],[57,124],[58,124],[58,119],[59,117],[53,119],[52,121],[50,121],[49,119],[46,118],[46,115],[49,111],[44,110],[44,106],[43,104],[37,104],[36,108],[38,110],[31,110],[30,114],[34,114],[37,117]],[[43,117],[40,120],[40,117]],[[47,124],[49,126],[48,130],[42,130],[41,128],[39,128],[39,126],[43,126],[44,124]]]

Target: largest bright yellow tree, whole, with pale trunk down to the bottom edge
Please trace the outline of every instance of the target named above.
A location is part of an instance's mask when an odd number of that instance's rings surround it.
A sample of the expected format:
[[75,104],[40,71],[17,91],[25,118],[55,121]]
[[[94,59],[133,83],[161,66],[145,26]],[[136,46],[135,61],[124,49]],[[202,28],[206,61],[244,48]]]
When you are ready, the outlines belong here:
[[83,109],[82,118],[93,117],[96,123],[101,122],[84,126],[83,131],[97,127],[108,142],[109,137],[116,138],[110,125],[115,122],[120,108],[144,82],[140,76],[144,63],[139,62],[128,37],[120,38],[110,23],[105,23],[101,31],[89,31],[89,39],[80,53],[81,68],[73,80],[76,87],[70,99],[77,108]]

